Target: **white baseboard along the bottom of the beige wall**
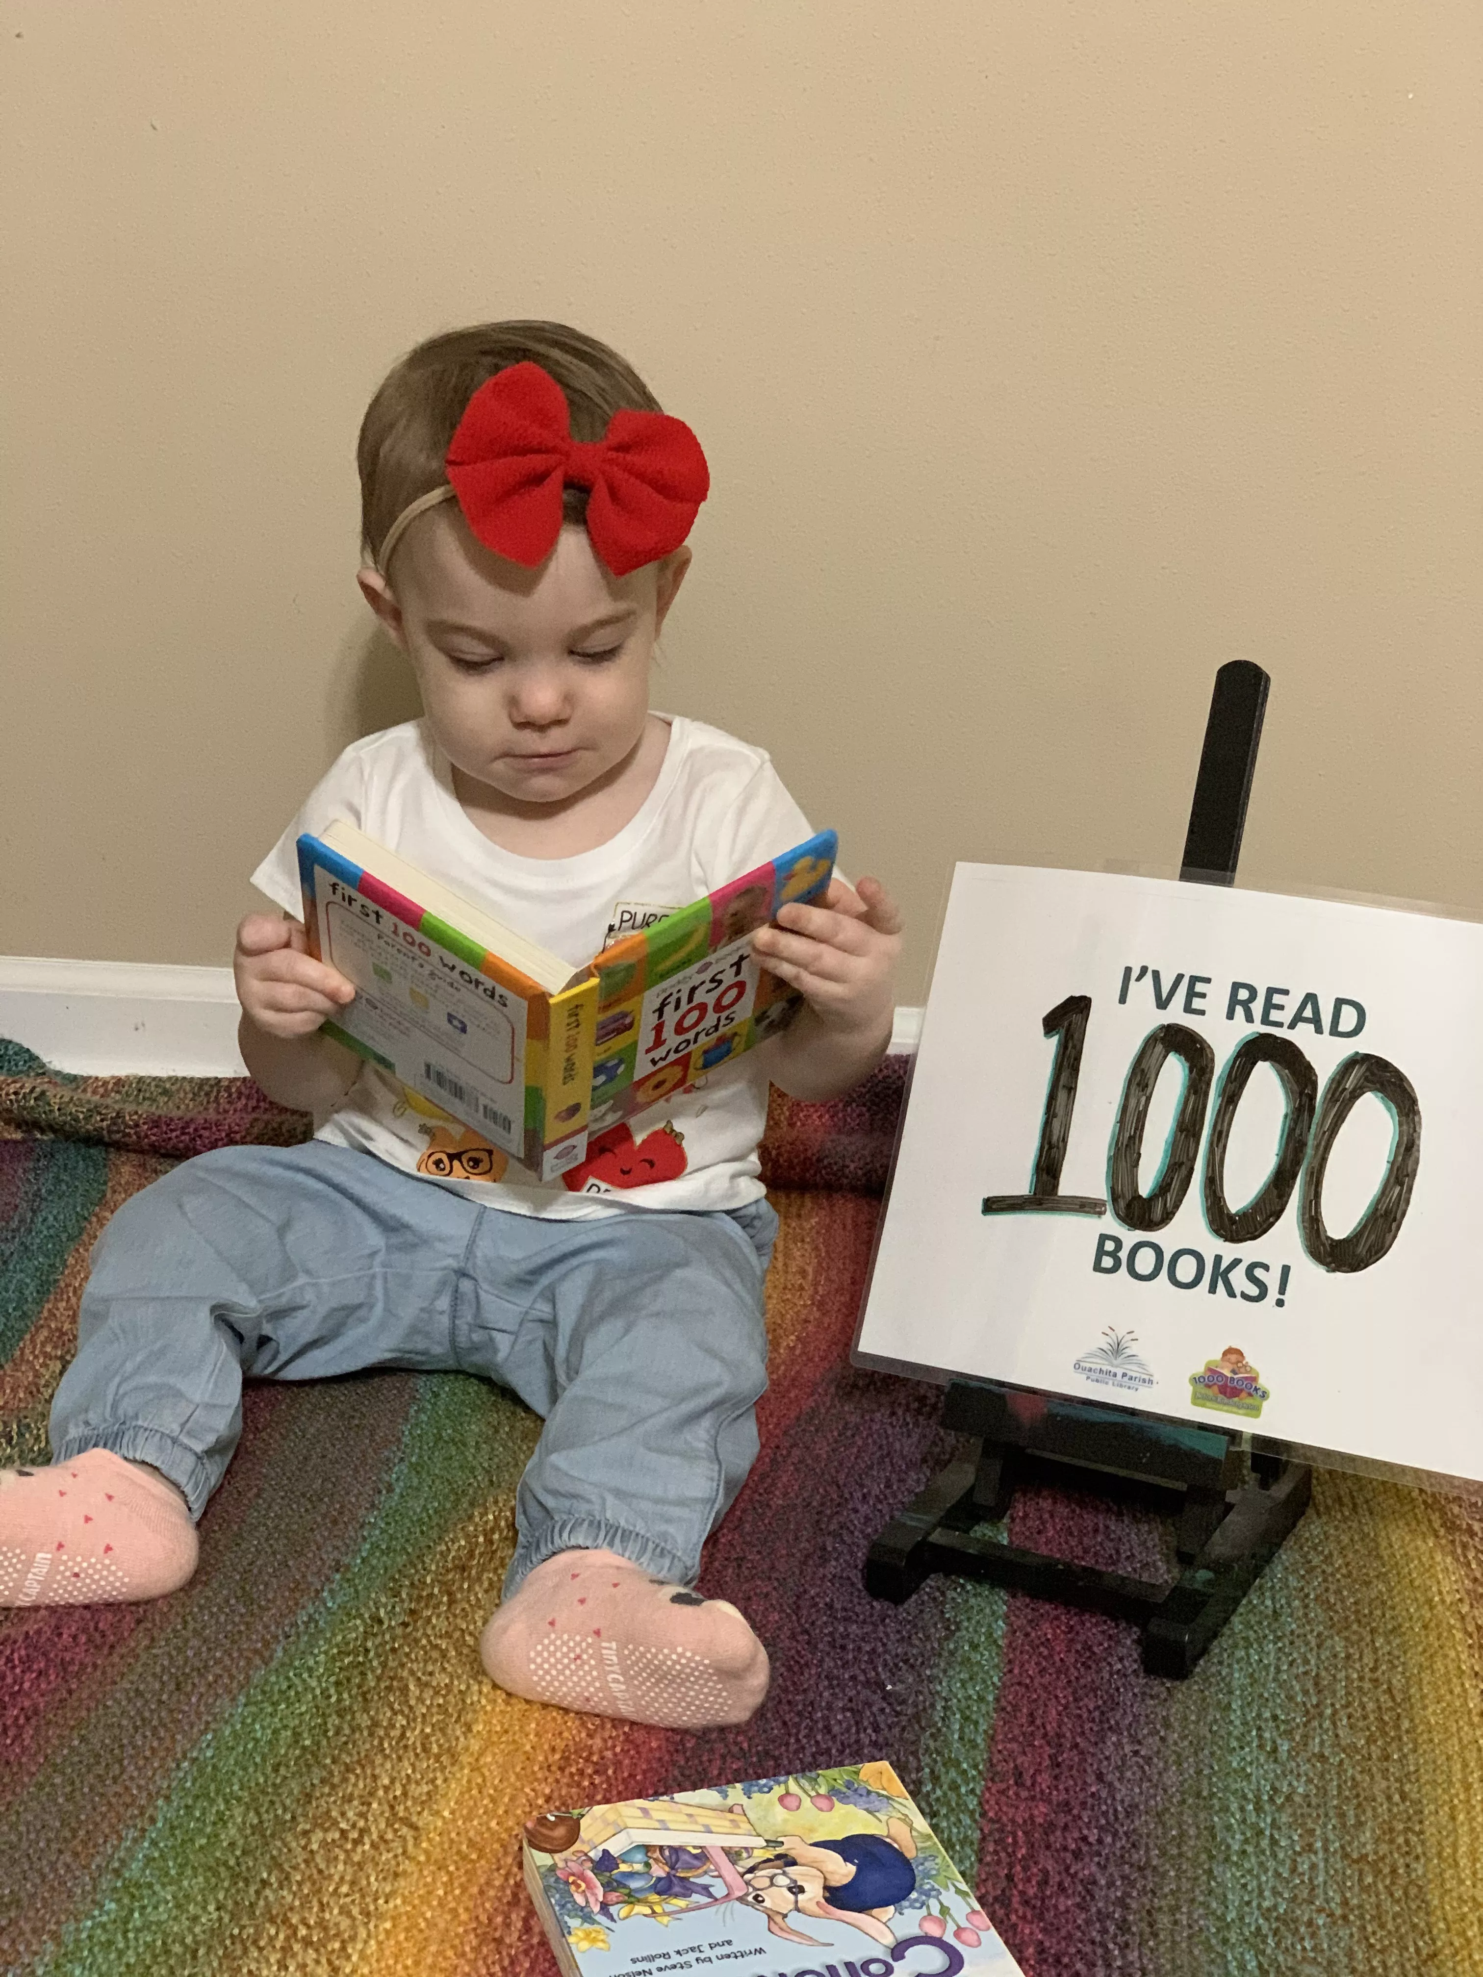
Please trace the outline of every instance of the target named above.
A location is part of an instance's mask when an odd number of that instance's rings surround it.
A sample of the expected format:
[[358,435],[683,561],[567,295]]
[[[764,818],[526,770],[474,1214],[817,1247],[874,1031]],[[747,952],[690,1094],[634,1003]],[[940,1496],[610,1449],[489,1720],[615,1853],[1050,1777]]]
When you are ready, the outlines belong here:
[[[921,1010],[898,1008],[892,1050],[916,1050]],[[0,1036],[61,1072],[245,1077],[231,969],[0,955]]]

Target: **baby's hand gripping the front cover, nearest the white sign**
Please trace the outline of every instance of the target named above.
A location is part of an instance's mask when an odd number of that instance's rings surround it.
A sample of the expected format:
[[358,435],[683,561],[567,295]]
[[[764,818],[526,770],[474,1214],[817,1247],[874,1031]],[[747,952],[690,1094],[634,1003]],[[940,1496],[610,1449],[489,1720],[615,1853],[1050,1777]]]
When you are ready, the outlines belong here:
[[751,945],[773,975],[803,990],[825,1028],[890,1034],[902,915],[878,878],[858,888],[830,880],[823,905],[785,905]]

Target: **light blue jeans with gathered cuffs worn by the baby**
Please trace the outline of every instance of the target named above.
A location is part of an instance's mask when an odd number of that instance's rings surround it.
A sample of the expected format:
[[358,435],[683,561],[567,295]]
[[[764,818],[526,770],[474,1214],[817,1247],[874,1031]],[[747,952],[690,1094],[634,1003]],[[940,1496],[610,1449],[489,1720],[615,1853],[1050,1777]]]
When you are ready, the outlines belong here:
[[51,1455],[152,1463],[200,1516],[243,1378],[484,1374],[546,1419],[506,1593],[571,1548],[690,1586],[757,1455],[775,1234],[765,1200],[548,1222],[324,1141],[204,1153],[103,1230]]

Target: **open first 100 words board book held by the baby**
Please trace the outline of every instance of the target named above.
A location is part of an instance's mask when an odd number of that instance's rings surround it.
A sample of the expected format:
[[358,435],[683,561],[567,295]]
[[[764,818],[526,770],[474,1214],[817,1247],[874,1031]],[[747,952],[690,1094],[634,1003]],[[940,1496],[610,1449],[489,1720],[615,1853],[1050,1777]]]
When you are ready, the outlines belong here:
[[554,1180],[589,1135],[791,1022],[801,996],[751,935],[827,890],[836,842],[823,830],[573,969],[336,818],[299,838],[308,947],[356,985],[324,1034]]

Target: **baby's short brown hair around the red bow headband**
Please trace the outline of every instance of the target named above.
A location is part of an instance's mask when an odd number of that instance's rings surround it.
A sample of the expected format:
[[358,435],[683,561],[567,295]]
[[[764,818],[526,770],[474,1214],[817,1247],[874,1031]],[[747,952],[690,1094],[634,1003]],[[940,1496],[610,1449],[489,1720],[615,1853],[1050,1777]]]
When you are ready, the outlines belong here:
[[[480,384],[510,364],[540,364],[562,386],[571,437],[601,439],[615,411],[662,411],[617,350],[566,322],[477,322],[409,350],[386,376],[360,421],[360,554],[380,563],[401,510],[447,480],[443,455]],[[564,494],[567,522],[587,516],[587,488]]]

